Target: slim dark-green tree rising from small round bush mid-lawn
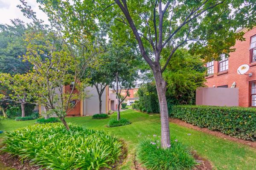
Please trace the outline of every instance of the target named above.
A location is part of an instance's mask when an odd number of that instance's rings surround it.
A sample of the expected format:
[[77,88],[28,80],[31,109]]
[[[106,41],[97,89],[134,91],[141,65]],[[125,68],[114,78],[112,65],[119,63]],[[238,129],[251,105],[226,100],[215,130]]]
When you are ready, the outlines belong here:
[[[138,62],[136,48],[134,44],[126,43],[126,45],[110,44],[109,51],[105,55],[107,70],[115,79],[110,83],[118,101],[117,105],[117,120],[120,119],[120,105],[129,96],[129,89],[134,86],[138,77]],[[121,95],[122,94],[122,95]]]

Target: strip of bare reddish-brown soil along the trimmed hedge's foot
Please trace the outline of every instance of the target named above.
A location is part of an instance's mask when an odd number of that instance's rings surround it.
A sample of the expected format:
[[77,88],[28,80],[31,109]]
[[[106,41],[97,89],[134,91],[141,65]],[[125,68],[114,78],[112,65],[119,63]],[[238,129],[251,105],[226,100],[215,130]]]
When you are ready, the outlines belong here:
[[211,135],[214,135],[214,136],[218,136],[218,137],[220,137],[222,139],[225,139],[225,140],[229,140],[229,141],[233,141],[233,142],[237,142],[237,143],[241,143],[241,144],[246,144],[247,146],[256,148],[256,142],[247,141],[247,140],[235,138],[235,137],[232,137],[232,136],[228,136],[228,135],[225,135],[224,133],[221,133],[220,131],[217,131],[217,130],[209,130],[205,127],[204,128],[197,127],[197,126],[191,125],[189,123],[186,123],[186,122],[184,122],[180,119],[175,119],[175,118],[169,118],[169,122],[172,122],[172,123],[175,123],[177,125],[184,126],[184,127],[189,127],[189,128],[194,129],[194,130],[198,130],[198,131],[208,133],[208,134],[211,134]]

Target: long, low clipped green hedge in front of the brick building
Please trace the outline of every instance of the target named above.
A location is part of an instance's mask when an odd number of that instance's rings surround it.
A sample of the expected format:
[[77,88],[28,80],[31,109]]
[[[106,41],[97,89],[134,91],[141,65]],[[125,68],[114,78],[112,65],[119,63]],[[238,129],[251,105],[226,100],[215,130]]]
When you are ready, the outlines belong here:
[[256,141],[256,108],[177,105],[172,107],[170,116],[198,127]]

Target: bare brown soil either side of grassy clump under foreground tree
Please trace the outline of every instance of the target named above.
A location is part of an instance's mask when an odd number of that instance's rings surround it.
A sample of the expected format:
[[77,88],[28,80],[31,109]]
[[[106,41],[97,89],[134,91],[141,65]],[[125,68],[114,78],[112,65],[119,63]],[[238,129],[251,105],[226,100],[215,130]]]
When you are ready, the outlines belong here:
[[[194,170],[212,170],[212,164],[207,159],[201,158],[197,154],[194,154],[194,158],[199,163],[199,165],[195,166]],[[134,158],[134,165],[136,170],[147,170],[145,167],[142,167],[142,165],[136,161]]]

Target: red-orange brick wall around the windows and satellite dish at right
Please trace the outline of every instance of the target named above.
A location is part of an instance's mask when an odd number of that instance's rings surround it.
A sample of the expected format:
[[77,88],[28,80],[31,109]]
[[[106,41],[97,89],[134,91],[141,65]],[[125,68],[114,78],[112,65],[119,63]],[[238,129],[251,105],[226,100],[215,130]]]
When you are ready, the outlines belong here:
[[[221,85],[228,85],[230,88],[233,82],[236,82],[236,88],[239,88],[239,106],[250,106],[250,91],[249,82],[256,81],[256,63],[250,63],[250,38],[256,35],[256,27],[250,31],[245,32],[245,41],[237,41],[234,48],[235,52],[230,53],[228,71],[218,73],[218,61],[214,62],[213,77],[208,77],[206,85],[208,87],[215,87]],[[250,69],[246,74],[253,73],[252,77],[248,75],[237,74],[237,68],[242,65],[250,65]]]

